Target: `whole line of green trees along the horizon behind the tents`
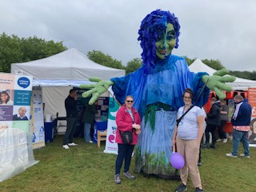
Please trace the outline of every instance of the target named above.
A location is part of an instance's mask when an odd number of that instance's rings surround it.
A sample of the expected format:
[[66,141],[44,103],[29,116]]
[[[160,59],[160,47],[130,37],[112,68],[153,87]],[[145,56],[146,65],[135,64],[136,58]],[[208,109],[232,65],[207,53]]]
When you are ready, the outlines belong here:
[[[17,35],[7,35],[5,33],[0,36],[0,72],[10,73],[10,64],[17,62],[29,62],[40,58],[47,58],[51,55],[58,54],[67,47],[63,42],[46,41],[36,36],[30,38],[18,38]],[[102,53],[100,50],[88,51],[87,57],[90,60],[97,62],[103,66],[109,66],[116,69],[126,70],[126,74],[137,70],[142,66],[141,58],[134,58],[126,63],[126,66],[121,61],[112,58],[108,54]],[[190,66],[196,58],[186,58],[186,62]],[[202,59],[202,62],[210,66],[214,70],[224,68],[222,62],[218,59]],[[256,71],[238,71],[230,70],[230,74],[238,78],[246,78],[256,80]]]

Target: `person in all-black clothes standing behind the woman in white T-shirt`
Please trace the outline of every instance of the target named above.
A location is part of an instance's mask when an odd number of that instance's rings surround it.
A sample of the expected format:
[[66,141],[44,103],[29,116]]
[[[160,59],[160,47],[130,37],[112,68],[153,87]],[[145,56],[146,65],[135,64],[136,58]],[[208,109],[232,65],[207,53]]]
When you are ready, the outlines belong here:
[[[216,127],[221,124],[220,101],[217,98],[210,98],[210,111],[206,114],[206,142],[203,148],[216,148]],[[212,136],[212,144],[210,145],[210,134]]]

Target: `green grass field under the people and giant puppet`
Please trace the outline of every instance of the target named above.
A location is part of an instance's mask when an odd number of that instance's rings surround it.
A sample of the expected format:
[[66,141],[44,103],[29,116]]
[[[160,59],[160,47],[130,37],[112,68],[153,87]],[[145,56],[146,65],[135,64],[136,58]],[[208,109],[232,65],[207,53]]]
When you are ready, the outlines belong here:
[[[144,178],[134,174],[135,180],[122,177],[122,184],[114,183],[114,163],[116,154],[103,153],[105,148],[83,142],[76,138],[78,146],[70,150],[62,148],[62,136],[46,144],[42,149],[34,150],[38,164],[31,166],[21,174],[0,182],[1,192],[67,191],[67,192],[162,192],[174,191],[178,181],[160,178]],[[232,150],[232,141],[218,142],[217,149],[202,150],[202,166],[199,167],[204,191],[247,192],[255,190],[256,152],[250,148],[251,158],[228,158],[226,153]],[[242,143],[239,153],[243,153]],[[130,172],[134,170],[132,159]],[[188,182],[188,192],[194,191]]]

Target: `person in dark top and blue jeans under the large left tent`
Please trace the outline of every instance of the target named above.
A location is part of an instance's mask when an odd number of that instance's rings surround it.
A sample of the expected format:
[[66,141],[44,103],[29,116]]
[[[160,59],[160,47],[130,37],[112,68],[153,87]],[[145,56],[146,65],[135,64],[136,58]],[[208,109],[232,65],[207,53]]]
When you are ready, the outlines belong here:
[[98,100],[94,102],[94,105],[86,106],[85,113],[82,116],[82,123],[84,123],[84,128],[83,128],[84,140],[90,143],[93,142],[90,136],[90,127],[94,125],[95,114],[98,113],[97,106],[98,106]]

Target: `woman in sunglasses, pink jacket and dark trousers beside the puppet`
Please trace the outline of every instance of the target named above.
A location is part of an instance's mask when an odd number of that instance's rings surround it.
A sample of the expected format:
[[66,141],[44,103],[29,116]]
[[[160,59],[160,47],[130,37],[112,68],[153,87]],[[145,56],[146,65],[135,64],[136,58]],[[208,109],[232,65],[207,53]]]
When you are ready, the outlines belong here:
[[[122,162],[125,160],[123,175],[126,178],[134,179],[134,175],[130,174],[130,161],[134,151],[134,145],[138,142],[138,134],[141,132],[141,118],[138,111],[133,107],[134,98],[131,95],[126,96],[125,104],[121,106],[116,115],[115,121],[117,123],[117,132],[115,142],[118,143],[118,157],[115,162],[115,174],[114,182],[116,184],[121,183],[120,170],[122,168]],[[122,142],[121,134],[124,131],[131,131],[133,142],[124,144]]]

